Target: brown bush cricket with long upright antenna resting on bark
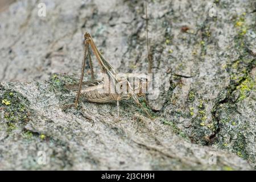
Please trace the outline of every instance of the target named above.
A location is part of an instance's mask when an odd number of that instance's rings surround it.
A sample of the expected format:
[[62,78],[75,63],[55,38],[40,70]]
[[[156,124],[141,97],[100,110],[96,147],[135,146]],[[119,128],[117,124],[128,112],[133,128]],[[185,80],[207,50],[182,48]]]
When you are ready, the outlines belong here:
[[[145,5],[146,5],[146,37],[147,37],[148,73],[151,73],[151,57],[149,55],[148,30],[147,30],[147,27],[148,27],[147,0],[145,0]],[[101,73],[104,73],[107,79],[104,79],[104,80],[95,79],[93,64],[92,64],[92,57],[90,55],[89,47],[92,49],[93,54],[96,56],[98,64],[100,65],[100,68],[101,68]],[[88,58],[89,60],[90,75],[92,80],[83,82],[86,58]],[[96,102],[96,103],[106,103],[110,101],[117,101],[117,115],[119,118],[119,101],[133,98],[136,104],[143,109],[143,111],[148,115],[148,117],[151,118],[151,115],[148,113],[148,111],[142,106],[142,104],[138,100],[138,97],[146,98],[146,95],[142,93],[142,85],[147,86],[148,84],[147,78],[140,78],[139,85],[135,85],[137,86],[137,89],[138,89],[138,92],[135,93],[134,85],[131,84],[129,79],[127,77],[117,77],[117,75],[118,75],[118,72],[112,67],[112,65],[109,64],[107,60],[104,59],[100,51],[98,51],[96,44],[94,44],[92,36],[90,36],[90,34],[86,32],[84,34],[84,57],[82,59],[82,69],[81,69],[79,85],[66,85],[65,88],[77,91],[76,101],[74,104],[75,107],[77,107],[79,103],[80,96],[85,98],[86,101]],[[104,86],[105,87],[107,86],[107,88],[110,88],[108,84],[121,85],[121,89],[122,89],[122,86],[126,86],[126,88],[129,89],[129,93],[99,92],[99,90],[102,90]]]

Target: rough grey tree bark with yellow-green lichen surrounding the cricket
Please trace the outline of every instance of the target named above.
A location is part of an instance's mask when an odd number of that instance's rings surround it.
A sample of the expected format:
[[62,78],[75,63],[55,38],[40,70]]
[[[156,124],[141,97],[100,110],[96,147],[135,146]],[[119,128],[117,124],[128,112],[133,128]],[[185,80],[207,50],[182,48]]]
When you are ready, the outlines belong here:
[[76,93],[64,85],[79,81],[84,32],[119,72],[147,73],[144,1],[12,3],[0,13],[0,169],[255,169],[256,3],[214,3],[211,17],[207,1],[148,1],[160,95],[143,102],[153,119],[129,100],[120,120],[114,102],[66,107]]

